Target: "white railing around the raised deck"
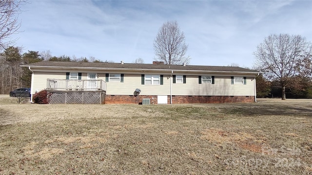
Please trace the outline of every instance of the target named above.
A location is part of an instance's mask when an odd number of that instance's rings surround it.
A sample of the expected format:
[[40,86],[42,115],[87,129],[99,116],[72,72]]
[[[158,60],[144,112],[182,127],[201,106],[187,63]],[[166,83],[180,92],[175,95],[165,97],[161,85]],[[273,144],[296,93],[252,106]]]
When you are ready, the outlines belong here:
[[103,80],[47,79],[48,90],[106,90]]

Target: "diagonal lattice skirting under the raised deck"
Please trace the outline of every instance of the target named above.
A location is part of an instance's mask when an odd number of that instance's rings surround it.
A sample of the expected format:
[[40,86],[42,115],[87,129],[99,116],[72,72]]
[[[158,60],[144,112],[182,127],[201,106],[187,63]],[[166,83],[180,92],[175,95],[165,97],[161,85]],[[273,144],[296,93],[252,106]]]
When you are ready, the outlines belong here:
[[104,92],[48,92],[49,104],[104,104]]

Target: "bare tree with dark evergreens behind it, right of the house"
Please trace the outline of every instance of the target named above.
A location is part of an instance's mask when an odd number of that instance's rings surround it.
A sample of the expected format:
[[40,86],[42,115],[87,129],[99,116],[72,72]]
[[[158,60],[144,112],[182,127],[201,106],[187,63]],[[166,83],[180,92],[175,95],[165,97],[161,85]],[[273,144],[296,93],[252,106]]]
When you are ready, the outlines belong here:
[[312,43],[305,37],[269,35],[257,46],[254,56],[254,69],[263,72],[258,77],[258,96],[312,98]]

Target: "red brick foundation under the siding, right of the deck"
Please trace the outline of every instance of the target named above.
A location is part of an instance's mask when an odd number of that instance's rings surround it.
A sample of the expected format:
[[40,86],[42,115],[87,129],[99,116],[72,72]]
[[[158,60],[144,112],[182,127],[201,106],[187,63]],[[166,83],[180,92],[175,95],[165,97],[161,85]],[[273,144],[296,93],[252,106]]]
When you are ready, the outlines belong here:
[[[106,95],[105,104],[141,104],[143,98],[151,99],[151,105],[157,104],[157,95]],[[153,99],[154,98],[154,99]],[[173,104],[188,103],[235,103],[235,102],[254,102],[254,96],[188,96],[173,95]],[[168,95],[170,104],[170,95]]]

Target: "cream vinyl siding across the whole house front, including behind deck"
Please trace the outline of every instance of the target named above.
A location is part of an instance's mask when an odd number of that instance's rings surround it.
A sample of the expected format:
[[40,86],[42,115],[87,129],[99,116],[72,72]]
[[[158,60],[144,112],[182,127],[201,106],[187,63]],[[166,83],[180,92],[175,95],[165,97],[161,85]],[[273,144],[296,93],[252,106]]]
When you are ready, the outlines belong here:
[[[32,87],[32,93],[34,94],[36,90],[40,91],[47,88],[46,79],[66,79],[66,72],[71,72],[72,70],[53,70],[59,72],[48,72],[48,70],[38,71],[34,70],[34,82]],[[63,72],[61,72],[63,71]],[[87,72],[83,70],[77,70],[75,72],[81,72],[81,79],[86,80],[88,78]],[[74,72],[74,71],[73,71]],[[118,74],[119,71],[98,71],[98,80],[105,81],[105,73]],[[141,72],[131,73],[130,71],[120,72],[124,73],[124,82],[120,83],[106,83],[106,94],[107,95],[134,95],[137,88],[141,89],[140,95],[170,95],[170,81],[173,81],[173,77],[166,75],[163,72],[151,72],[145,75],[157,75],[156,79],[160,84],[160,74],[163,75],[163,85],[161,86],[146,86],[141,85]],[[200,75],[200,74],[199,74]],[[239,74],[237,77],[245,77],[246,85],[237,84],[231,86],[231,74],[213,74],[215,76],[215,84],[202,83],[198,84],[198,74],[186,74],[187,84],[183,83],[172,83],[172,95],[208,95],[208,96],[253,96],[254,95],[254,77],[248,77],[248,74]],[[212,75],[212,76],[213,76]],[[170,78],[171,77],[171,78]],[[145,78],[145,77],[144,77]],[[152,77],[151,77],[152,78]]]

